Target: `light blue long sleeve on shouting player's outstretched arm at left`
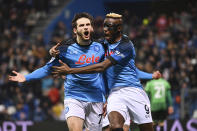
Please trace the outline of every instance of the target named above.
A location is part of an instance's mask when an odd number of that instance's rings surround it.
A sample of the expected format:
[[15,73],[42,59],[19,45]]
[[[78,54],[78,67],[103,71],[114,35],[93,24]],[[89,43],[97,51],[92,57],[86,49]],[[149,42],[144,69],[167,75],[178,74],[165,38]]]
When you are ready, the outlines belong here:
[[45,66],[25,75],[26,81],[41,79],[48,76],[51,73],[51,67],[55,65],[59,65],[58,59],[52,57]]

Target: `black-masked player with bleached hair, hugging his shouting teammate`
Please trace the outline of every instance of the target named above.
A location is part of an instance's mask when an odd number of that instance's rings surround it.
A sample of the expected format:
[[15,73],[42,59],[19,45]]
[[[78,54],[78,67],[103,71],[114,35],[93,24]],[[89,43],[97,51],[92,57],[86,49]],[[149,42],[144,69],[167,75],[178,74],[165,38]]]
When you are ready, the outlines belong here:
[[[104,44],[107,46],[107,58],[98,64],[82,68],[70,68],[61,62],[53,67],[53,74],[96,73],[106,71],[110,94],[107,113],[112,131],[123,131],[123,125],[129,113],[131,120],[139,125],[141,131],[153,131],[150,101],[143,90],[139,76],[160,78],[159,72],[147,74],[135,66],[133,43],[122,34],[122,16],[115,13],[106,15],[104,20]],[[140,75],[138,75],[140,73]]]

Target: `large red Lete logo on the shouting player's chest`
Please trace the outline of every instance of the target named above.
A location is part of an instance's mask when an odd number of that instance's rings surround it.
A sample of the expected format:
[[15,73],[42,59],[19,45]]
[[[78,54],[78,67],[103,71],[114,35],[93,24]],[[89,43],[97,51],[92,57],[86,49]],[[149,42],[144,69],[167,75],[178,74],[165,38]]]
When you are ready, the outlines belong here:
[[92,55],[92,57],[87,57],[85,54],[81,55],[75,64],[83,65],[85,63],[98,63],[99,62],[99,56],[95,57]]

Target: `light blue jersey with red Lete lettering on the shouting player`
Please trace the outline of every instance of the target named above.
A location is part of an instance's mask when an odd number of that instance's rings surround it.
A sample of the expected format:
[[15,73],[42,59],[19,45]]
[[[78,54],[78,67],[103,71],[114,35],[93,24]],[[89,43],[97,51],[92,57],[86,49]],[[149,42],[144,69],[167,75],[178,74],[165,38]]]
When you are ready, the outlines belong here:
[[[26,80],[40,79],[52,71],[51,67],[58,65],[58,59],[71,68],[78,68],[99,63],[104,59],[104,49],[100,43],[92,42],[88,46],[77,43],[59,47],[59,58],[53,58],[44,67],[26,75]],[[102,73],[68,74],[64,81],[65,98],[74,98],[88,102],[104,102],[104,82]]]

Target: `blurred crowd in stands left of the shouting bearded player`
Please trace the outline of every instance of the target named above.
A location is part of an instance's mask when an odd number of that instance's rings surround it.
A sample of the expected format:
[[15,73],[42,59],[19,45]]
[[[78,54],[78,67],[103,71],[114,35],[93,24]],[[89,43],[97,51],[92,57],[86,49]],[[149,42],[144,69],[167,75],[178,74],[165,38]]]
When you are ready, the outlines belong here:
[[49,60],[42,34],[31,43],[30,33],[59,1],[0,0],[0,120],[53,120],[62,113],[61,80],[8,81],[12,70],[28,74]]

